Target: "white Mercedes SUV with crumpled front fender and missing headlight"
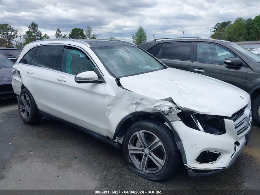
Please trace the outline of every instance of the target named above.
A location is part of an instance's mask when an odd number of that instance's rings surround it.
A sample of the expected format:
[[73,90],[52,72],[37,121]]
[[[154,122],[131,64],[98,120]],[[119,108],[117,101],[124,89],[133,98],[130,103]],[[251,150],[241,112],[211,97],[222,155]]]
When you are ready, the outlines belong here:
[[129,169],[153,181],[180,161],[190,176],[224,170],[250,137],[248,93],[124,41],[34,41],[14,64],[12,86],[25,123],[53,117],[122,147]]

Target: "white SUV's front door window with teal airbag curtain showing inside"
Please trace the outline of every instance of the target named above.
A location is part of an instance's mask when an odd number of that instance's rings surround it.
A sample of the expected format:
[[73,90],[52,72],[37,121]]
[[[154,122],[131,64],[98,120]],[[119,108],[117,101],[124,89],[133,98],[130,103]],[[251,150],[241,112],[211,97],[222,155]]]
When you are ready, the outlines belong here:
[[90,62],[87,56],[73,48],[65,47],[62,58],[62,72],[77,75],[85,71],[94,71],[95,66]]

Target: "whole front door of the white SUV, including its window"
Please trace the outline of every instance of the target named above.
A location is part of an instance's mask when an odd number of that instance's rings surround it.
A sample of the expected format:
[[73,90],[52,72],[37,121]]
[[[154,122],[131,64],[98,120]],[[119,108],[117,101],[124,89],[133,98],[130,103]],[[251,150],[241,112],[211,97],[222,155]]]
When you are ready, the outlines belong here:
[[106,84],[75,81],[75,75],[81,72],[96,71],[94,64],[81,50],[65,46],[60,70],[55,82],[61,118],[104,135]]

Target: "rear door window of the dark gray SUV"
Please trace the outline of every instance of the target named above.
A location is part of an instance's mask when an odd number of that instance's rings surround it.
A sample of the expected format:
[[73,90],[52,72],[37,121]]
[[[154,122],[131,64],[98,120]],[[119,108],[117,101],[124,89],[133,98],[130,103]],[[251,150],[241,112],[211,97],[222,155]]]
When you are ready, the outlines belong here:
[[191,43],[167,43],[162,48],[162,58],[190,60]]

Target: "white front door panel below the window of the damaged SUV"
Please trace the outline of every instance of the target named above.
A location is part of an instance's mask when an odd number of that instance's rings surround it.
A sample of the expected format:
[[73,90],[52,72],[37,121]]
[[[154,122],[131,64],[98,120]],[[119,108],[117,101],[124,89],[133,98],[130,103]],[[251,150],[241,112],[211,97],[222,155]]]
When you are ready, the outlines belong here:
[[100,83],[76,83],[74,75],[57,73],[56,96],[62,119],[104,134],[106,124],[105,90]]

